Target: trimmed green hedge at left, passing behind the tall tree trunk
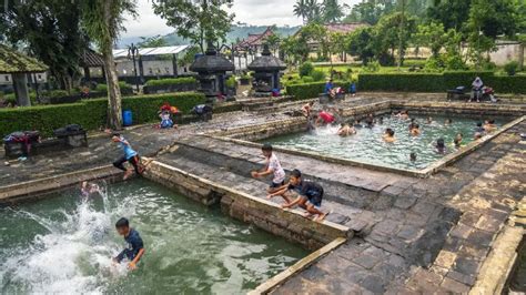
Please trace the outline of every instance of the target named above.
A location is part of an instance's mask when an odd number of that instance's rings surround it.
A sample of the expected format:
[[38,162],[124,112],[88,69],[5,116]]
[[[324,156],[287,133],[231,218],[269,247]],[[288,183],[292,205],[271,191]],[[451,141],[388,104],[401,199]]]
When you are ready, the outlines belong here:
[[[172,93],[123,98],[122,109],[133,112],[133,123],[141,124],[159,120],[159,108],[169,102],[183,113],[190,113],[196,104],[205,102],[201,93]],[[52,135],[54,129],[80,124],[87,130],[105,125],[107,99],[83,100],[79,103],[42,105],[18,109],[0,109],[0,139],[13,131],[38,130],[43,136]]]

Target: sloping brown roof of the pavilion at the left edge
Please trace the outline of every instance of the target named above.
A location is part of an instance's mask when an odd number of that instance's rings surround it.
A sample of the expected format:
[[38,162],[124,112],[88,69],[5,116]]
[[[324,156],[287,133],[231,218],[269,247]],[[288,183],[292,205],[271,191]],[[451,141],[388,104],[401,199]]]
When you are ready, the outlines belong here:
[[47,70],[48,67],[42,62],[0,44],[0,73],[38,73]]

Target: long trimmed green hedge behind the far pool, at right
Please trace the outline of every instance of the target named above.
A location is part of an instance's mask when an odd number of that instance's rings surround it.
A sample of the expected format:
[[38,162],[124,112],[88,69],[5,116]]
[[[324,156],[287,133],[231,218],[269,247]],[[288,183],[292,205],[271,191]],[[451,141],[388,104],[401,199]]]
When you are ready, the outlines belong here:
[[444,72],[444,73],[361,73],[358,90],[445,92],[456,87],[468,90],[476,77],[497,93],[526,94],[526,77],[499,77],[493,72]]

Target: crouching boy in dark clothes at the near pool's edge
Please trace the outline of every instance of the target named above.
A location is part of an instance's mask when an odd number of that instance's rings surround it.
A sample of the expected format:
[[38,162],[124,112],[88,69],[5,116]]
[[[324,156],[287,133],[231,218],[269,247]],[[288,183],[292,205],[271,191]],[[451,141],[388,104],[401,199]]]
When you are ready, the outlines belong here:
[[276,195],[284,195],[290,191],[294,191],[299,194],[297,199],[292,203],[281,205],[282,208],[290,208],[295,205],[307,211],[304,215],[305,217],[311,217],[312,215],[317,215],[315,221],[323,221],[328,213],[324,213],[321,210],[323,201],[323,187],[311,181],[304,181],[302,179],[302,173],[296,169],[291,174],[291,181],[287,186],[282,187],[282,190],[270,194],[269,197]]

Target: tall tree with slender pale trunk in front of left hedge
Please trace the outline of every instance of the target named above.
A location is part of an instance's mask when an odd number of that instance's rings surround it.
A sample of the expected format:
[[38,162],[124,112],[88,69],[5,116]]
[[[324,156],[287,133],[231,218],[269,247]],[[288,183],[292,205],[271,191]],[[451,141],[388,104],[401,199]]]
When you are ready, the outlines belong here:
[[108,83],[108,123],[114,130],[122,128],[122,99],[112,48],[124,30],[124,14],[135,16],[134,0],[82,0],[82,23],[99,47],[104,60]]

